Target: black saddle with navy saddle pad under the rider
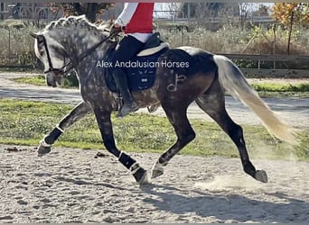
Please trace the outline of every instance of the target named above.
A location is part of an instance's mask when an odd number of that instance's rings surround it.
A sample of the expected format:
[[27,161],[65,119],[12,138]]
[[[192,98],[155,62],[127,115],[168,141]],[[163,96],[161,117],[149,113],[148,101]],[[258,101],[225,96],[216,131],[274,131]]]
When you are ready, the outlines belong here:
[[[105,61],[109,61],[108,56],[112,55],[112,51],[115,48],[116,46],[108,49],[107,58],[104,59]],[[164,51],[169,48],[169,44],[161,40],[160,33],[155,32],[149,40],[145,42],[143,49],[136,54],[136,57],[131,58],[131,63],[136,65],[136,67],[125,68],[128,88],[131,92],[145,90],[151,88],[155,84],[155,63]],[[106,69],[104,74],[109,90],[117,93],[117,86],[110,69]]]

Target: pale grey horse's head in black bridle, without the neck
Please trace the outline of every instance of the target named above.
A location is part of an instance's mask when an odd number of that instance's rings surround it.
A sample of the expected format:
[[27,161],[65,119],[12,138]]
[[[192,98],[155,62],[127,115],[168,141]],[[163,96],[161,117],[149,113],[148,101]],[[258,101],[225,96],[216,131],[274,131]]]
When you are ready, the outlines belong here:
[[34,52],[42,61],[46,84],[49,86],[61,85],[63,82],[63,71],[70,63],[66,50],[61,43],[53,40],[44,33],[30,33],[34,40]]

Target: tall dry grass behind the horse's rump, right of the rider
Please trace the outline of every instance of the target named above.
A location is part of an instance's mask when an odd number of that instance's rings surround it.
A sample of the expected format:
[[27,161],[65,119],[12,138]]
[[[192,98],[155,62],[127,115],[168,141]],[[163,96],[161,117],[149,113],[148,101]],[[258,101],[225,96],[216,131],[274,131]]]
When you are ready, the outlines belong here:
[[[190,45],[211,52],[251,53],[251,54],[286,54],[287,31],[278,27],[276,38],[274,31],[267,28],[240,29],[223,26],[213,32],[197,28],[192,32],[177,30],[159,30],[164,40],[173,47]],[[292,35],[290,54],[309,54],[309,30],[295,27]],[[276,42],[274,50],[274,42]]]

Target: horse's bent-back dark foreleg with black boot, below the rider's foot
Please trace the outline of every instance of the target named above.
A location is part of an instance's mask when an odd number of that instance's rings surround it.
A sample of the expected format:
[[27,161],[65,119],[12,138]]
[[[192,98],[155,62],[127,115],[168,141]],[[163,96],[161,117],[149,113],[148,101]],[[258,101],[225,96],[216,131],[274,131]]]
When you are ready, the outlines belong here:
[[94,112],[98,121],[98,128],[101,132],[104,146],[108,149],[108,152],[117,157],[122,165],[126,166],[135,177],[137,183],[146,183],[145,169],[142,166],[139,166],[136,159],[127,155],[126,152],[120,151],[116,146],[112,122],[110,120],[111,112],[100,109],[94,109]]

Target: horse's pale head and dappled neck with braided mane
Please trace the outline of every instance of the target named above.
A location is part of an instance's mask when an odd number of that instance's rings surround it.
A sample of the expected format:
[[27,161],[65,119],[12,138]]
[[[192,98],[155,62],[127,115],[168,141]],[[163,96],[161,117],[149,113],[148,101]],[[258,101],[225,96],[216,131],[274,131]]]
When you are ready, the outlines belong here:
[[89,23],[85,16],[70,16],[50,23],[42,32],[31,33],[47,85],[60,85],[66,71],[77,67],[102,39],[108,39],[108,26],[108,23],[100,26]]

